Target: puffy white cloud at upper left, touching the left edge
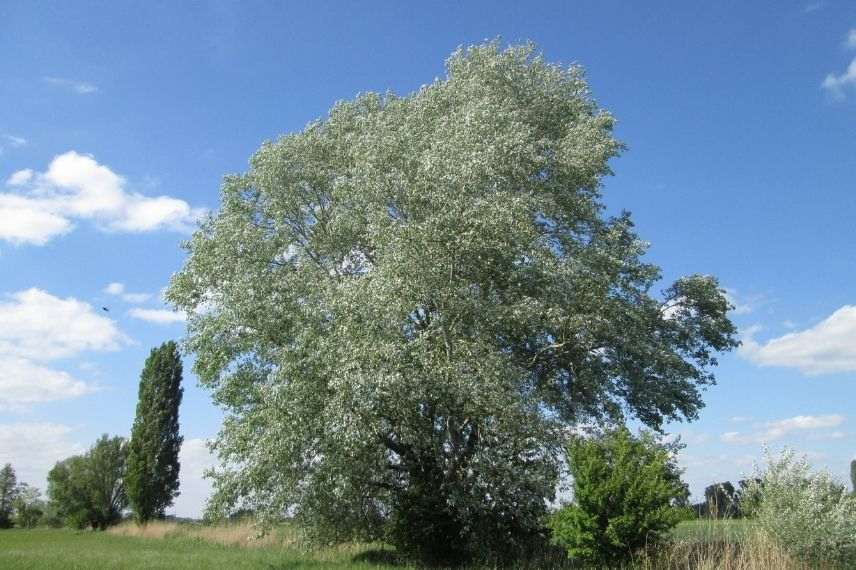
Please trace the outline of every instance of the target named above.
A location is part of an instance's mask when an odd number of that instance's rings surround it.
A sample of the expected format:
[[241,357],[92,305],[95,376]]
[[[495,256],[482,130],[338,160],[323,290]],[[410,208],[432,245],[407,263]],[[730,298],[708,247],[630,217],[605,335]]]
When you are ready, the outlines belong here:
[[204,213],[178,198],[144,196],[95,158],[69,151],[45,172],[19,170],[0,192],[0,239],[43,245],[88,220],[104,231],[190,231]]

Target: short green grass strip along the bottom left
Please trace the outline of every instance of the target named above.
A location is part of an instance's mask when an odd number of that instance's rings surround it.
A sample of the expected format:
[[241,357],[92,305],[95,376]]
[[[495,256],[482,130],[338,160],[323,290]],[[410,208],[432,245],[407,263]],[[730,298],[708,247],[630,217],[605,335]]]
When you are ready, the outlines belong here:
[[244,568],[390,569],[383,563],[360,561],[380,553],[363,549],[301,551],[294,548],[242,548],[198,538],[147,539],[103,532],[66,529],[0,531],[0,568],[91,570],[99,568]]

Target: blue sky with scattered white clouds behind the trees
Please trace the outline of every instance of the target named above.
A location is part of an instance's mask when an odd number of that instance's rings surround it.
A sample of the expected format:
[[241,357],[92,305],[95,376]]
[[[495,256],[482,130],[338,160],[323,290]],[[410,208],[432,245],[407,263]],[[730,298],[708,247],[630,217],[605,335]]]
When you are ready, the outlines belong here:
[[[130,431],[148,351],[183,333],[160,290],[223,174],[336,100],[412,91],[499,36],[587,69],[628,145],[610,210],[633,213],[665,281],[717,275],[738,307],[743,348],[701,419],[670,426],[693,492],[765,441],[843,476],[856,4],[527,4],[0,4],[0,463],[43,486],[57,459]],[[176,511],[195,515],[220,416],[186,378]]]

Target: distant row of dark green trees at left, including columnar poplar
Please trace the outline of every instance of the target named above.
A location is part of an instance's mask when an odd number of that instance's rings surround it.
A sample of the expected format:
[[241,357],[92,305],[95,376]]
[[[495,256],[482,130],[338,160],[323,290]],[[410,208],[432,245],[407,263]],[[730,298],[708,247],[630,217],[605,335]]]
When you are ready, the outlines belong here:
[[38,524],[104,530],[130,507],[145,524],[162,518],[178,496],[182,365],[178,346],[155,348],[140,376],[130,440],[102,435],[85,453],[57,462],[48,473],[48,501],[39,489],[0,470],[0,528]]

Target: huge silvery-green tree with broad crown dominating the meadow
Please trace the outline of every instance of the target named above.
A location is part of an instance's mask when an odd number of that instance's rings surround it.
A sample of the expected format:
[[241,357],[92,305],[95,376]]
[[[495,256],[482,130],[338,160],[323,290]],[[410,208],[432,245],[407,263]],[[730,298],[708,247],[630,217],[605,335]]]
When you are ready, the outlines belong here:
[[429,543],[513,544],[564,429],[694,418],[736,345],[713,278],[652,296],[603,215],[621,145],[579,68],[493,42],[447,73],[265,143],[188,243],[168,297],[227,411],[212,513],[401,545],[431,511]]

